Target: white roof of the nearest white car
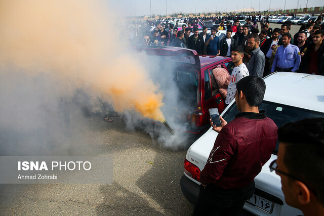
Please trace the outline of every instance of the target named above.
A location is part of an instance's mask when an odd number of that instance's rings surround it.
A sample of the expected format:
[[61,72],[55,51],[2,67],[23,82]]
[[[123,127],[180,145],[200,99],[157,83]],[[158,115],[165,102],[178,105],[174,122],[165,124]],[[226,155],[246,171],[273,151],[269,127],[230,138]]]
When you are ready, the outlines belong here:
[[265,101],[324,112],[324,76],[276,72],[264,81]]

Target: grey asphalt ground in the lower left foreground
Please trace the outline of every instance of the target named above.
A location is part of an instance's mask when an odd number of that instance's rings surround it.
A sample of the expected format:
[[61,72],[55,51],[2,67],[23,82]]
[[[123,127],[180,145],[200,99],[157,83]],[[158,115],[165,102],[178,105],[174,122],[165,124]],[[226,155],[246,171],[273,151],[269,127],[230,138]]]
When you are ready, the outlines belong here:
[[191,215],[179,185],[186,151],[162,148],[113,119],[89,117],[76,138],[51,148],[51,155],[112,154],[113,184],[3,184],[0,215]]

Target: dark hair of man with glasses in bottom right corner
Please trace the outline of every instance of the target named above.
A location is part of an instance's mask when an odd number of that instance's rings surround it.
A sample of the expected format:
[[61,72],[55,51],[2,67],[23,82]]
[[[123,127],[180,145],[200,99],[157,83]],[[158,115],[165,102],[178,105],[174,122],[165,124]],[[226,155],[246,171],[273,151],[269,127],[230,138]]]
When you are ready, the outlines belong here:
[[289,174],[309,186],[324,204],[324,118],[286,123],[278,129],[278,141],[285,146]]

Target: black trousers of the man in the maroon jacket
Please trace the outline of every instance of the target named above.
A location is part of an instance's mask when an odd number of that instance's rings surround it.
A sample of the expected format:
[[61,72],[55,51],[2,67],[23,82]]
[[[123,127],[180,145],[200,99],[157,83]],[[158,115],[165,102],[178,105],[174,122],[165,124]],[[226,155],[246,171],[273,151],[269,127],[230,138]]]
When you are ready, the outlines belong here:
[[223,189],[215,185],[200,185],[193,215],[239,215],[244,203],[254,193],[254,181],[244,188]]

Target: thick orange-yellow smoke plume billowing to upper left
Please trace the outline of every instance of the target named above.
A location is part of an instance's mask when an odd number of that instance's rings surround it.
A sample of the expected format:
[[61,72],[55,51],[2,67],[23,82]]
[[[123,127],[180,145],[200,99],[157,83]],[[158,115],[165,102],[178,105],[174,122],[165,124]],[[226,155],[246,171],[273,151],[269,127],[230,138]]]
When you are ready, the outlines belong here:
[[103,1],[1,1],[1,72],[9,66],[30,75],[50,72],[101,92],[116,111],[163,121],[163,95],[145,67],[125,53],[128,26],[118,36],[111,11]]

